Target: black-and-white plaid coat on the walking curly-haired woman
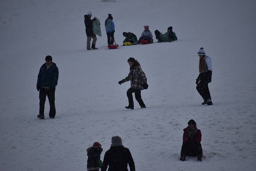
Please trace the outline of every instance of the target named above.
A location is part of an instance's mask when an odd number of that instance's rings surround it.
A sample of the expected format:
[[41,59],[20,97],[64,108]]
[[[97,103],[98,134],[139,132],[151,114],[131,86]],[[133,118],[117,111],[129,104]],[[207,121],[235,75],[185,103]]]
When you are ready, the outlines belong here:
[[147,83],[147,77],[140,66],[132,66],[128,76],[123,79],[123,83],[127,81],[131,81],[131,89],[142,90],[144,89],[142,84]]

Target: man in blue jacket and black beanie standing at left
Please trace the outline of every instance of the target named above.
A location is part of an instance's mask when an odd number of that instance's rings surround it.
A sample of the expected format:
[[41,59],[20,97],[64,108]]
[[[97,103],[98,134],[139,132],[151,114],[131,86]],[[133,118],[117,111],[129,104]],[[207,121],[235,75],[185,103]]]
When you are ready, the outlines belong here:
[[50,112],[49,117],[53,119],[56,114],[55,110],[55,87],[58,84],[59,70],[54,62],[52,56],[45,57],[45,63],[41,66],[37,76],[36,89],[39,91],[39,115],[37,118],[44,119],[44,104],[46,95],[49,99]]

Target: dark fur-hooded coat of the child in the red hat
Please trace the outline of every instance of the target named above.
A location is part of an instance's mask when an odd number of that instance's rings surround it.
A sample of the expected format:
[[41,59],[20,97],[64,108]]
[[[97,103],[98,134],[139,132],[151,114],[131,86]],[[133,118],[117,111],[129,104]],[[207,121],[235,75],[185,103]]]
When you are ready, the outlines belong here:
[[100,154],[102,152],[102,148],[99,149],[96,146],[92,146],[87,149],[87,170],[99,170],[100,165],[98,161],[100,160]]

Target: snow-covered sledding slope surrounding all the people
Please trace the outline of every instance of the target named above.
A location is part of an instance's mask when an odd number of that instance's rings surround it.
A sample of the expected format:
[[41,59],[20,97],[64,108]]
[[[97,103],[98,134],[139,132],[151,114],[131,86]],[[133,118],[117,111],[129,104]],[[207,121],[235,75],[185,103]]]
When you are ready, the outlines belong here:
[[[122,137],[136,170],[252,171],[256,166],[254,0],[2,0],[0,1],[0,170],[86,170],[86,149],[98,141],[103,159],[111,136]],[[84,14],[101,22],[99,50],[85,50]],[[104,21],[112,13],[118,49],[107,48]],[[121,46],[122,33],[154,43]],[[154,31],[172,26],[178,41],[156,43]],[[196,91],[197,51],[212,58],[212,106]],[[59,67],[56,117],[39,120],[37,74],[52,55]],[[127,110],[134,57],[149,88],[147,106]],[[203,161],[179,161],[182,129],[194,119],[202,131]]]

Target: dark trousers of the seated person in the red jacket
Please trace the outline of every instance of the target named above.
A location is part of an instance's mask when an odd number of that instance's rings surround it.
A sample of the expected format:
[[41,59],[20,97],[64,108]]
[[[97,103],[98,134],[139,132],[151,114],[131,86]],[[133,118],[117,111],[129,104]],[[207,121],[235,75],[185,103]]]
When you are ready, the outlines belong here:
[[203,149],[201,143],[186,143],[184,142],[181,147],[180,157],[196,156],[197,158],[203,157]]

